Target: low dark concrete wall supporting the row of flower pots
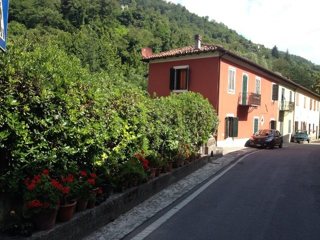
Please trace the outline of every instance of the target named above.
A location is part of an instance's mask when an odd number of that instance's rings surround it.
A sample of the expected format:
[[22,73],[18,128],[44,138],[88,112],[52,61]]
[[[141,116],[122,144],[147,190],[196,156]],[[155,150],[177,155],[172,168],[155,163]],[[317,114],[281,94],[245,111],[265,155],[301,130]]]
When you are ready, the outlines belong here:
[[222,156],[222,148],[218,154],[210,157],[209,155],[196,159],[189,164],[172,171],[162,173],[159,177],[151,179],[136,187],[131,187],[121,193],[113,193],[106,201],[92,209],[83,212],[75,212],[72,219],[68,222],[56,222],[55,226],[47,231],[33,232],[31,237],[7,237],[0,235],[0,239],[30,239],[30,240],[71,240],[81,239],[90,232],[113,221],[120,214],[130,210],[140,202],[146,200],[153,194],[159,192],[170,184],[182,179],[186,175],[201,168],[212,159]]

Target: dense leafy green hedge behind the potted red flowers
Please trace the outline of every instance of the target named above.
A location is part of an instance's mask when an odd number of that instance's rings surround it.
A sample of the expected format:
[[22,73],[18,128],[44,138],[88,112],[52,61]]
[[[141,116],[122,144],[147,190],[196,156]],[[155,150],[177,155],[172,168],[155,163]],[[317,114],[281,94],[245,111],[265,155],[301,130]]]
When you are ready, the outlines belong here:
[[90,73],[54,42],[17,40],[0,54],[1,188],[26,175],[76,167],[110,171],[168,139],[199,145],[217,128],[207,99],[185,92],[149,97],[118,73]]

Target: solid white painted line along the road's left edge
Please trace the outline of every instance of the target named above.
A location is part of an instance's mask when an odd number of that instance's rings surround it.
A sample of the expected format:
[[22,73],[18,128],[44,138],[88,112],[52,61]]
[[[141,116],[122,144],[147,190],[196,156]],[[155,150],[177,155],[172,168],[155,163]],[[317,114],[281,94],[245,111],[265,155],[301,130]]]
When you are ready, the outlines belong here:
[[163,216],[159,217],[153,223],[151,223],[146,228],[144,228],[140,233],[138,233],[137,235],[132,237],[131,240],[142,240],[144,237],[149,235],[152,231],[154,231],[157,227],[159,227],[163,222],[165,222],[167,219],[169,219],[171,216],[173,216],[176,212],[178,212],[179,209],[181,209],[183,206],[185,206],[187,203],[189,203],[192,199],[194,199],[198,194],[200,194],[203,190],[205,190],[205,188],[207,188],[209,185],[211,185],[213,182],[215,182],[217,179],[219,179],[224,173],[226,173],[233,166],[235,166],[244,157],[246,157],[254,152],[255,151],[252,151],[252,152],[246,154],[245,156],[240,157],[238,160],[236,160],[230,166],[228,166],[223,171],[221,171],[216,176],[214,176],[212,179],[207,181],[203,186],[201,186],[197,190],[195,190],[191,195],[189,195],[187,198],[185,198],[183,201],[181,201],[179,204],[177,204],[171,210],[166,212]]

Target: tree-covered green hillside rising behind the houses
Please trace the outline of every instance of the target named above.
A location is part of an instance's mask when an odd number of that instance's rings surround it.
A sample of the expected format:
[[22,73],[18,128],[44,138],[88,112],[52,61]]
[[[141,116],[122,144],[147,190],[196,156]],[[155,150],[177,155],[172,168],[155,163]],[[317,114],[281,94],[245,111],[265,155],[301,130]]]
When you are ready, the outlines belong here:
[[[128,7],[122,9],[121,4]],[[146,86],[146,65],[140,51],[153,52],[193,44],[200,33],[205,43],[221,44],[291,80],[319,91],[320,65],[266,48],[227,28],[164,0],[10,0],[8,44],[15,38],[47,44],[54,41],[74,54],[91,72]]]

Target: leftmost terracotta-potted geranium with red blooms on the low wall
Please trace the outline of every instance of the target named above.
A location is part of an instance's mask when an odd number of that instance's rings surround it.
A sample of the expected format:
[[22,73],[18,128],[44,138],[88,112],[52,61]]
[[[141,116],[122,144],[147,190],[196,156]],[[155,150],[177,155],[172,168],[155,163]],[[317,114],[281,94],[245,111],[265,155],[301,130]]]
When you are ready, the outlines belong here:
[[32,217],[35,227],[39,230],[50,229],[59,208],[60,197],[66,188],[56,179],[49,176],[49,171],[32,178],[25,178],[23,190],[23,214]]

